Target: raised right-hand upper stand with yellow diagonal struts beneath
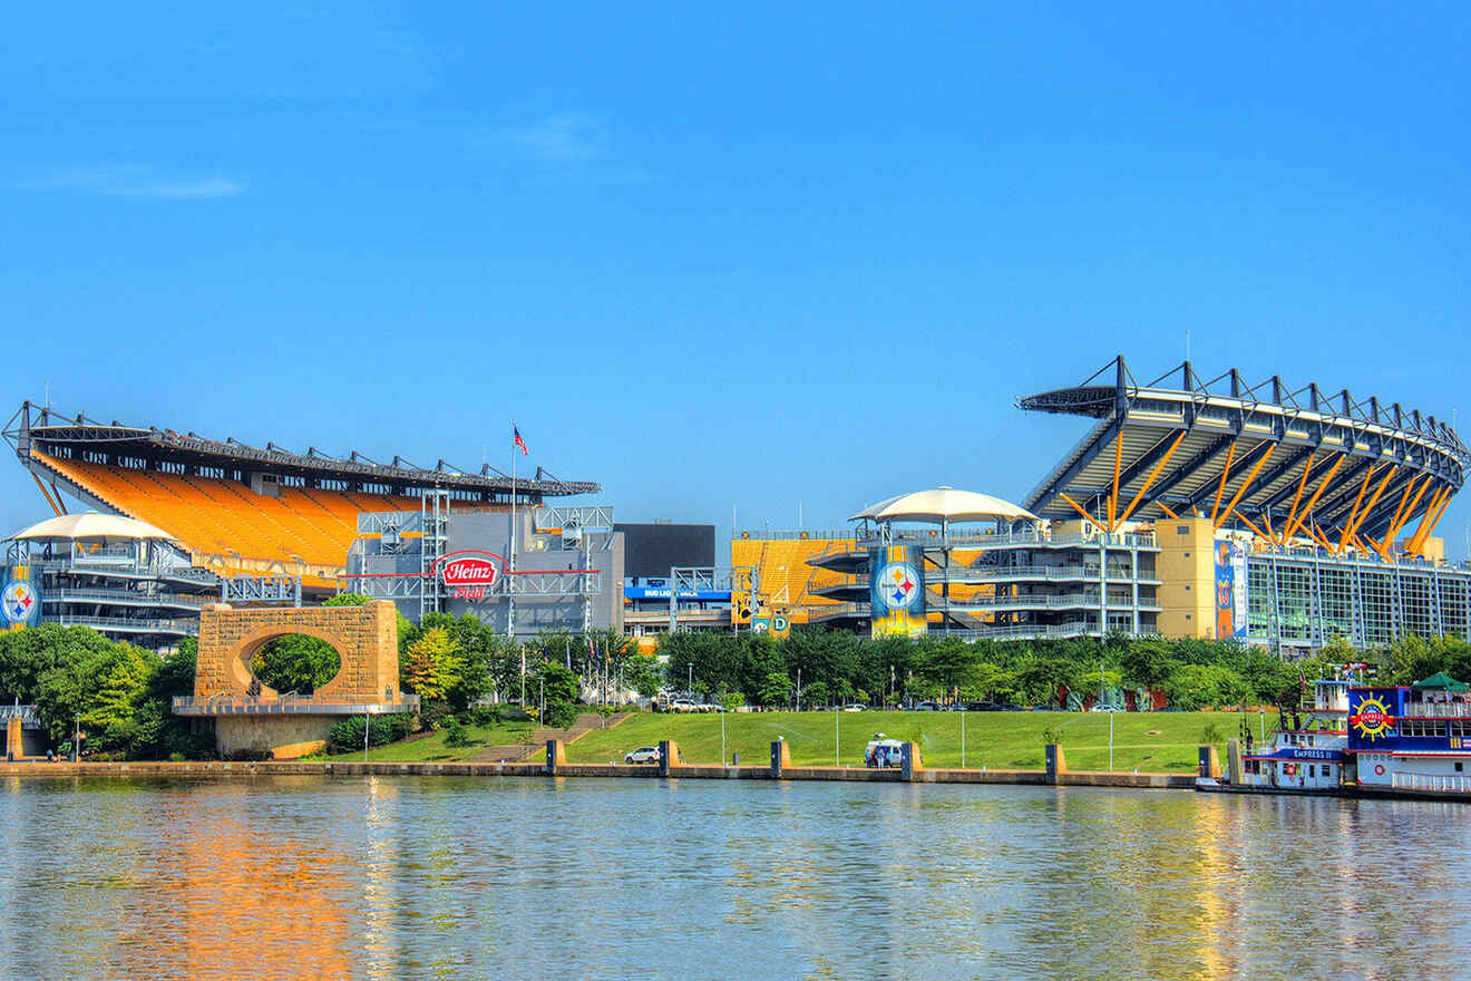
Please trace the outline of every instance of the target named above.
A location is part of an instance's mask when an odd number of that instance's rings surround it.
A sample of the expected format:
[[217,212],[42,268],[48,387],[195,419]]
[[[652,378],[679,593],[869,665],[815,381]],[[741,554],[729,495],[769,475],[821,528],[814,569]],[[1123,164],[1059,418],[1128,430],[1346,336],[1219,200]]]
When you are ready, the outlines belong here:
[[[1122,354],[1080,385],[1018,400],[1097,424],[1022,504],[1043,518],[1200,515],[1272,541],[1417,552],[1461,490],[1471,452],[1434,416],[1346,388],[1209,381],[1190,362],[1139,384]],[[1417,519],[1420,519],[1418,524]]]

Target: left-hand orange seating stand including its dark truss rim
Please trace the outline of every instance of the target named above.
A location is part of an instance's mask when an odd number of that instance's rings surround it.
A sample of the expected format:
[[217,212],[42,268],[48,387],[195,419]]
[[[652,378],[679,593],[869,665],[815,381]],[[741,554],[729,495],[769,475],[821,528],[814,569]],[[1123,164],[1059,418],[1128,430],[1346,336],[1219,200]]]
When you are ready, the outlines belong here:
[[585,494],[597,484],[432,468],[402,457],[377,463],[360,453],[338,459],[315,447],[303,453],[265,449],[194,432],[63,418],[29,402],[10,418],[4,437],[57,513],[62,493],[103,510],[128,515],[175,535],[196,565],[222,575],[302,575],[335,587],[357,534],[357,513],[419,510],[424,490],[447,490],[468,507],[537,504],[546,497]]

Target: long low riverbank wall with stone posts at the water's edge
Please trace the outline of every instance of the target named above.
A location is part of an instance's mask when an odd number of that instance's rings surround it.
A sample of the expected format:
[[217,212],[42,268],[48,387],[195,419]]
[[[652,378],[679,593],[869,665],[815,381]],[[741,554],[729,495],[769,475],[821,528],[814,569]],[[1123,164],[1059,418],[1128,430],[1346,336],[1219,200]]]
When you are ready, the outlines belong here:
[[[800,781],[858,781],[858,782],[911,782],[911,784],[1036,784],[1058,787],[1133,787],[1147,790],[1194,790],[1194,774],[1119,774],[1058,769],[930,769],[912,765],[894,769],[868,769],[849,766],[791,766],[774,749],[774,762],[765,766],[721,766],[681,765],[671,762],[644,765],[619,763],[568,763],[560,744],[547,746],[544,762],[522,763],[382,763],[346,760],[266,760],[256,763],[229,763],[219,760],[202,762],[125,762],[125,763],[0,763],[0,777],[56,778],[56,777],[110,777],[159,778],[229,778],[229,777],[615,777],[630,780],[800,780]],[[783,755],[784,756],[784,755]],[[1059,752],[1061,757],[1061,752]],[[678,747],[668,746],[668,760],[678,759]],[[918,763],[918,750],[913,752]],[[1049,759],[1050,762],[1050,759]]]

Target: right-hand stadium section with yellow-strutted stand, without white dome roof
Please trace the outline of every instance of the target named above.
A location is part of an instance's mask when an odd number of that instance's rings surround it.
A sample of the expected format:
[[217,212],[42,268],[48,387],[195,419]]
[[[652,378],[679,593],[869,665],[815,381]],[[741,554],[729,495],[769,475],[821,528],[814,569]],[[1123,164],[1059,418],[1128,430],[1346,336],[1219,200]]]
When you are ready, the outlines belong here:
[[777,584],[768,600],[796,622],[871,632],[874,571],[899,560],[874,549],[902,544],[925,631],[1233,637],[1284,653],[1334,634],[1471,640],[1471,569],[1433,534],[1471,454],[1434,416],[1234,369],[1203,379],[1189,362],[1139,384],[1122,356],[1018,404],[1096,419],[1021,513],[958,527],[868,509],[852,531],[740,534],[731,565]]

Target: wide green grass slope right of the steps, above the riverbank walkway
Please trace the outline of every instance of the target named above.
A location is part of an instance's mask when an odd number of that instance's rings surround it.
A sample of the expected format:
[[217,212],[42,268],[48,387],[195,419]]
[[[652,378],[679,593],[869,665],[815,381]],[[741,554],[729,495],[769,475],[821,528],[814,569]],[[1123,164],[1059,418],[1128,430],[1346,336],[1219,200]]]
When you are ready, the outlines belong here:
[[[834,760],[834,716],[840,741]],[[687,763],[721,762],[719,715],[635,715],[619,727],[593,731],[566,747],[569,762],[622,762],[624,753],[672,738]],[[1256,715],[1246,716],[1253,737]],[[965,766],[1041,769],[1043,729],[1061,731],[1071,769],[1108,769],[1109,716],[1103,712],[752,712],[727,713],[725,760],[740,753],[743,765],[763,765],[778,735],[791,746],[797,766],[863,765],[863,747],[875,732],[919,744],[927,766],[961,766],[961,725],[965,724]],[[1196,768],[1205,729],[1224,759],[1225,740],[1239,734],[1242,715],[1224,712],[1131,712],[1114,715],[1114,769],[1186,774]],[[1275,716],[1265,719],[1267,727]]]

